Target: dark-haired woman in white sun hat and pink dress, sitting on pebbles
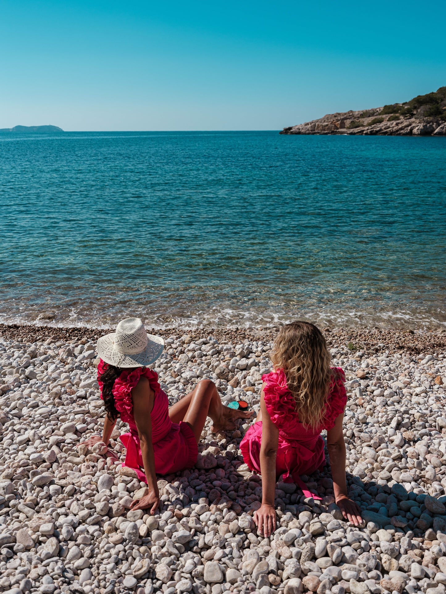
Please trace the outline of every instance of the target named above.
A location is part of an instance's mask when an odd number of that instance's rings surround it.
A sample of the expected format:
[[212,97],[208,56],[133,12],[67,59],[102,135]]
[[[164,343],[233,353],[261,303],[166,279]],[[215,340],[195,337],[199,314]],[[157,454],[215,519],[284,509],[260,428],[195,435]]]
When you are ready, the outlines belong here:
[[252,414],[222,406],[210,380],[200,381],[169,409],[158,375],[146,367],[159,358],[163,348],[164,340],[147,335],[139,318],[121,321],[116,332],[98,340],[98,382],[106,416],[102,438],[96,436],[86,442],[108,445],[118,416],[128,423],[130,432],[120,436],[127,448],[123,466],[134,469],[149,488],[149,494],[134,501],[131,508],[150,508],[151,514],[159,505],[156,474],[194,466],[207,416],[213,421],[212,431],[219,431],[233,429],[234,419]]

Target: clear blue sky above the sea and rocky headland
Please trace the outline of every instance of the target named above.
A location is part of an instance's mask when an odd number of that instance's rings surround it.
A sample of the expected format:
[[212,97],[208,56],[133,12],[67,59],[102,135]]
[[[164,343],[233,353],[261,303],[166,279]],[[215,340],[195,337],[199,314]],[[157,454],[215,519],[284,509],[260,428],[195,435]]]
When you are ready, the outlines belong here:
[[0,128],[280,129],[446,85],[446,3],[0,0]]

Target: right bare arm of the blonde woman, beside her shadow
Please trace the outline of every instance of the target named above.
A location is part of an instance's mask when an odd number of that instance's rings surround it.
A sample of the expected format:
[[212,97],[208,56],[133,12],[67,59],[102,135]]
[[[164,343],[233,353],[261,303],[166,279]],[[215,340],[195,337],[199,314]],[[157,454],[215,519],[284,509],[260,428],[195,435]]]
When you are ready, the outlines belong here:
[[344,413],[337,417],[334,427],[327,431],[327,449],[330,457],[336,503],[340,507],[344,518],[358,526],[362,522],[361,510],[347,495],[346,444],[343,435],[343,419]]

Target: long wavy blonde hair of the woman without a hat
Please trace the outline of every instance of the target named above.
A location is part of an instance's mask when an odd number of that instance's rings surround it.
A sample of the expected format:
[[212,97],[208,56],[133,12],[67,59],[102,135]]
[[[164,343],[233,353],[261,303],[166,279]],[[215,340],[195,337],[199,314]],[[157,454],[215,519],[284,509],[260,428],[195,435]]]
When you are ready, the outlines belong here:
[[285,324],[275,341],[271,361],[283,369],[296,401],[296,412],[306,428],[323,424],[328,390],[336,373],[321,330],[309,322]]

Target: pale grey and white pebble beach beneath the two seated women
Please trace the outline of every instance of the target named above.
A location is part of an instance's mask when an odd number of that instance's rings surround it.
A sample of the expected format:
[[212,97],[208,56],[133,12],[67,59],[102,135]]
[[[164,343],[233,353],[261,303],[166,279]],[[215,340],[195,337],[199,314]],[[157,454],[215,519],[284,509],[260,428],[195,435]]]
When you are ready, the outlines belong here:
[[[277,328],[153,331],[172,404],[201,378],[255,411],[233,432],[209,420],[196,466],[160,476],[162,508],[102,431],[95,345],[102,331],[0,325],[0,592],[9,594],[444,594],[446,333],[325,328],[346,372],[347,483],[363,526],[343,519],[329,466],[303,476],[322,500],[279,480],[277,529],[257,535],[262,480],[241,438],[259,410]],[[329,462],[329,461],[328,461]]]

